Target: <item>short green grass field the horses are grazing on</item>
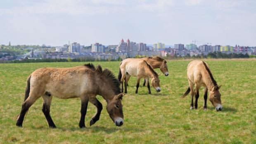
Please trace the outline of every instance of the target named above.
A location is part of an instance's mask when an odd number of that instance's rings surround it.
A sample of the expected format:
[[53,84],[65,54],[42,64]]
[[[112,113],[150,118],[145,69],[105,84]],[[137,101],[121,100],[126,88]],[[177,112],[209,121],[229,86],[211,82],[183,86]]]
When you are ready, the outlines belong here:
[[[131,78],[123,97],[124,125],[116,127],[105,109],[90,127],[96,107],[88,105],[87,128],[80,129],[80,99],[53,98],[51,116],[56,129],[48,128],[42,112],[43,99],[31,106],[23,127],[14,118],[21,110],[26,79],[37,68],[71,67],[83,62],[0,64],[0,143],[256,143],[256,60],[206,60],[213,77],[222,85],[223,110],[216,112],[208,100],[203,110],[201,89],[198,109],[190,110],[190,96],[180,99],[188,87],[186,68],[190,61],[168,61],[170,75],[160,75],[161,92],[139,87]],[[93,62],[118,75],[119,62]],[[159,69],[156,70],[160,73]],[[141,81],[142,85],[142,81]]]

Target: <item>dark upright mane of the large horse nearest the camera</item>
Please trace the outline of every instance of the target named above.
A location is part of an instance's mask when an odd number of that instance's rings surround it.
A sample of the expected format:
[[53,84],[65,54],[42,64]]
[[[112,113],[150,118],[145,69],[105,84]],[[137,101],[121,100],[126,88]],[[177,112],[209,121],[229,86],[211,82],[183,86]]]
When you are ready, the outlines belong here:
[[104,76],[104,78],[107,79],[107,82],[109,85],[112,85],[112,89],[114,90],[115,94],[120,94],[121,89],[120,89],[120,82],[119,80],[116,79],[116,76],[107,68],[105,68],[102,71],[102,67],[98,65],[96,68],[92,63],[85,64],[84,66],[87,66],[90,68],[92,71],[95,71],[97,74],[100,76]]

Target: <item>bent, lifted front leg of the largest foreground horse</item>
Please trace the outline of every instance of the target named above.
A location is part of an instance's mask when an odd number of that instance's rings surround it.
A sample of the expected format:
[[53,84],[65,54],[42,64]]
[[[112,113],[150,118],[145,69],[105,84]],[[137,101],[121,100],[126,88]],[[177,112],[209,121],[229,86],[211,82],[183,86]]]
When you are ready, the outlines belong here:
[[89,102],[97,107],[97,113],[91,118],[90,126],[95,124],[100,119],[100,113],[102,111],[102,104],[98,101],[96,97],[90,98]]

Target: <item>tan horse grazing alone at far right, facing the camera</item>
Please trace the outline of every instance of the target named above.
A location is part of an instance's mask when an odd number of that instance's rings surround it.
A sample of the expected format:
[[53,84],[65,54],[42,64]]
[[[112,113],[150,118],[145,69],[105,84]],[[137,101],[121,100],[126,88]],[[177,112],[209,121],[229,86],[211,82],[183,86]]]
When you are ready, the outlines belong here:
[[[204,87],[204,110],[206,110],[206,102],[207,102],[207,92],[209,92],[210,101],[213,106],[216,107],[216,111],[222,110],[221,100],[220,100],[220,92],[219,89],[221,87],[217,85],[214,80],[211,71],[209,69],[208,64],[204,61],[194,60],[191,61],[187,66],[187,79],[189,83],[189,87],[187,91],[181,96],[185,97],[191,91],[191,104],[190,109],[197,109],[197,100],[199,97],[199,89],[201,86]],[[193,104],[194,97],[194,85],[195,85],[195,102]],[[193,107],[194,106],[194,107]]]

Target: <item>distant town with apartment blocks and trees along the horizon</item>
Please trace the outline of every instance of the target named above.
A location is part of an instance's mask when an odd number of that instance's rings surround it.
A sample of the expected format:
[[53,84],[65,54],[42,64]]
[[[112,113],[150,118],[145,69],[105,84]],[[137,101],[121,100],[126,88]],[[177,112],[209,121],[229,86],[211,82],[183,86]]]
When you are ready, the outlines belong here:
[[[201,45],[199,45],[201,44]],[[121,39],[118,45],[103,45],[93,43],[90,46],[81,45],[78,42],[71,42],[63,46],[46,45],[0,45],[0,62],[22,61],[24,59],[88,59],[88,60],[121,60],[128,57],[200,57],[208,56],[214,58],[214,54],[236,54],[255,56],[256,47],[241,45],[211,45],[193,40],[190,44],[175,44],[166,46],[157,42],[153,45],[146,43],[132,42]]]

